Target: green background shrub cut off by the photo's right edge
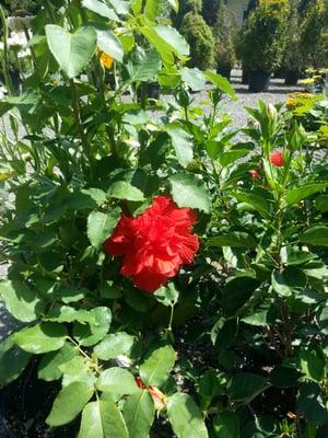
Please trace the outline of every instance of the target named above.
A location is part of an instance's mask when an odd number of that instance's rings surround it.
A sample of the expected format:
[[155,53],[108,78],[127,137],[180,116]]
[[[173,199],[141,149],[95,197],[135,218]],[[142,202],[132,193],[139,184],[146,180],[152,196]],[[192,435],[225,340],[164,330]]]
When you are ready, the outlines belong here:
[[315,0],[308,4],[301,30],[301,54],[306,67],[326,67],[328,5],[325,0]]

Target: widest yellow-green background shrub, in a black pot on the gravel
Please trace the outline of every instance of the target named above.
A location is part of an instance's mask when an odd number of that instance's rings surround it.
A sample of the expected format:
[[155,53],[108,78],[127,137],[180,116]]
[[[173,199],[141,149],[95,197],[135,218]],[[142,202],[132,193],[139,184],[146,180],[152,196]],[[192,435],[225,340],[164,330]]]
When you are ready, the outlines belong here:
[[286,0],[261,0],[246,22],[242,60],[249,67],[249,91],[266,91],[280,65],[286,28]]

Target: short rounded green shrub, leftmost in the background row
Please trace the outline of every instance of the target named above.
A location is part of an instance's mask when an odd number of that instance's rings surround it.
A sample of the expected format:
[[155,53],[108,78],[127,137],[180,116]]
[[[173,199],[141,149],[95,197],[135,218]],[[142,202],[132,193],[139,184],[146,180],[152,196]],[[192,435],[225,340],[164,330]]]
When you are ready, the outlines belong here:
[[203,18],[188,12],[179,31],[190,45],[190,67],[201,70],[211,68],[214,61],[214,37]]

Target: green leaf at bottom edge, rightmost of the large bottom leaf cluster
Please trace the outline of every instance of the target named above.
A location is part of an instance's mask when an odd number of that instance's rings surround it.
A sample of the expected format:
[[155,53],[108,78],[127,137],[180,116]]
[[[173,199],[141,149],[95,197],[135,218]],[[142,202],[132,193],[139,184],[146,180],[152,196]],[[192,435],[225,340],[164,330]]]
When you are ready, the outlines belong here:
[[168,399],[167,415],[177,438],[208,438],[201,412],[188,394],[175,393]]

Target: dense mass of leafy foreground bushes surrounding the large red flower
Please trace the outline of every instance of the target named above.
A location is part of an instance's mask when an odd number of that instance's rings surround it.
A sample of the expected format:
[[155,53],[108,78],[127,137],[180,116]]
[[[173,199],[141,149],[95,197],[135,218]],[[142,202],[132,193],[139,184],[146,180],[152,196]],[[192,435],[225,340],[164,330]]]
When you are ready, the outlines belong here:
[[[0,297],[24,325],[0,384],[37,367],[61,437],[327,436],[318,135],[259,102],[241,140],[229,81],[184,66],[152,2],[57,5],[33,23],[24,92],[0,102]],[[139,102],[155,80],[171,95]]]

